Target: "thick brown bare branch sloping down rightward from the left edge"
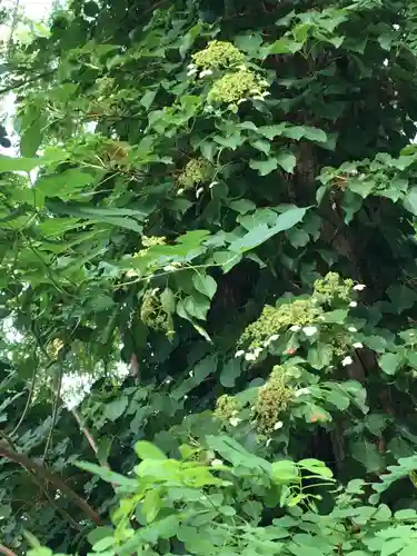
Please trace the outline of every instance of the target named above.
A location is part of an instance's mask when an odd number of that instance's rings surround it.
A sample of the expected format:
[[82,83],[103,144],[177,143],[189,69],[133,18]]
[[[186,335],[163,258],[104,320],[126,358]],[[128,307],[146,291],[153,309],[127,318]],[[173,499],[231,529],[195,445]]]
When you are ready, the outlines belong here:
[[86,514],[89,516],[91,522],[93,522],[96,525],[102,525],[100,516],[95,512],[91,506],[83,499],[81,496],[79,496],[77,493],[72,490],[68,485],[66,485],[59,477],[50,473],[48,469],[46,469],[43,466],[40,464],[37,464],[36,461],[32,461],[29,459],[26,455],[23,454],[18,454],[17,451],[8,448],[3,444],[0,444],[0,456],[7,457],[8,459],[11,459],[12,461],[21,465],[26,469],[31,469],[33,470],[37,475],[42,477],[43,479],[48,480],[57,489],[61,490],[69,498],[72,499],[72,502]]

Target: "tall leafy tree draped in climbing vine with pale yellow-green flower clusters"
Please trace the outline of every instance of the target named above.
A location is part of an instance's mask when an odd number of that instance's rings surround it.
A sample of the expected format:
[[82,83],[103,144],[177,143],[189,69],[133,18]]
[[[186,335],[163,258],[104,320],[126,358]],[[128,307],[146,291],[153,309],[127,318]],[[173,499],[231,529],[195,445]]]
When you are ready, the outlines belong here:
[[[1,295],[24,342],[8,380],[54,378],[52,410],[36,397],[44,464],[96,456],[126,475],[139,440],[176,458],[224,433],[342,483],[413,456],[416,18],[409,1],[75,0],[14,47],[21,157],[0,171],[39,171],[2,189]],[[64,371],[120,359],[131,376],[99,380],[77,424]],[[21,417],[6,434],[39,456]],[[106,516],[110,487],[75,483]],[[385,500],[415,504],[396,485]],[[86,549],[48,510],[33,533]],[[8,545],[28,512],[13,507]]]

